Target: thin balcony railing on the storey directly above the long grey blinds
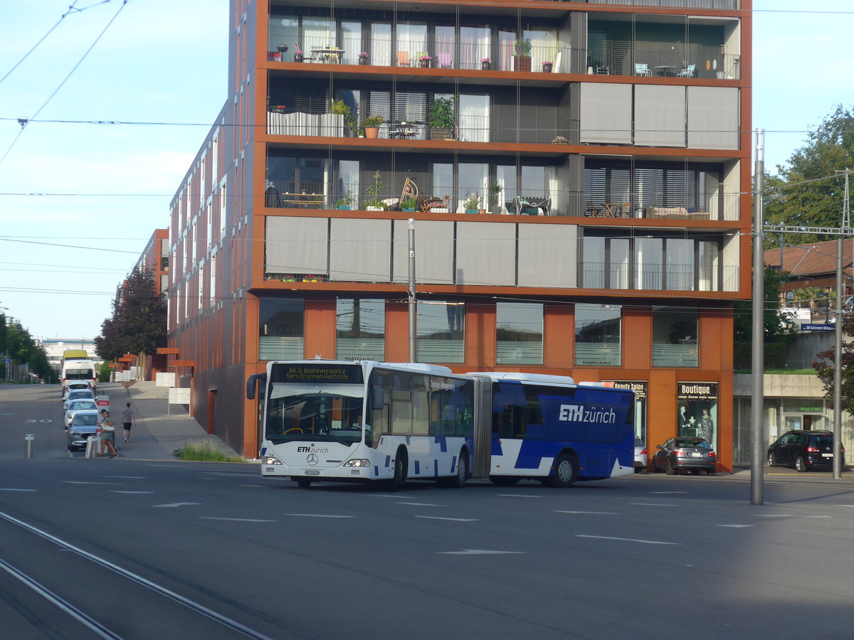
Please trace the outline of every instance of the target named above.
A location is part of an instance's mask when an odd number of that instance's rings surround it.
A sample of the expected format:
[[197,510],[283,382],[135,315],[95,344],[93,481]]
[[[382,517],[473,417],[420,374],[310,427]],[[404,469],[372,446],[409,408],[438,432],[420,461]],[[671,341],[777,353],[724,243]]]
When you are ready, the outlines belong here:
[[[265,206],[290,209],[344,209],[353,211],[404,211],[401,191],[367,191],[370,184],[344,183],[330,189],[321,182],[269,180]],[[402,185],[401,185],[402,188]],[[721,201],[721,205],[717,201]],[[684,199],[669,201],[669,206],[644,206],[640,201],[593,202],[584,194],[569,189],[502,189],[495,193],[483,185],[426,187],[422,185],[413,211],[429,213],[492,213],[500,215],[576,216],[587,218],[645,218],[681,224],[687,220],[736,221],[739,219],[740,195],[708,195],[710,208]]]

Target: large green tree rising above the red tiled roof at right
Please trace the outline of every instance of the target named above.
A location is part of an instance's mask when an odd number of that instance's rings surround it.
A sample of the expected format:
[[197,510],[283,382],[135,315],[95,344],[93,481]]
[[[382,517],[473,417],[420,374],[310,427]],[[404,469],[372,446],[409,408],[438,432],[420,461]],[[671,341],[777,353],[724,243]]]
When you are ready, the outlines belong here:
[[[765,221],[839,227],[845,177],[828,176],[845,169],[854,169],[854,113],[840,104],[816,131],[810,131],[806,145],[792,154],[788,166],[778,165],[777,175],[765,174]],[[783,239],[787,246],[823,240],[827,238],[805,234]],[[769,236],[768,245],[779,246],[779,236]]]

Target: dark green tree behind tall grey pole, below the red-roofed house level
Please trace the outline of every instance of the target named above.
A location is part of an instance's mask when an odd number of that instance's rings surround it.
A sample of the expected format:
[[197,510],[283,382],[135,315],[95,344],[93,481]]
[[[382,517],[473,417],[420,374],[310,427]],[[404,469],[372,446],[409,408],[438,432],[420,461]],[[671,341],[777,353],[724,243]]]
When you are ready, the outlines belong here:
[[[763,298],[764,359],[767,369],[783,369],[786,366],[786,347],[797,334],[797,327],[780,314],[780,290],[789,274],[765,266]],[[734,366],[735,369],[750,369],[753,346],[753,304],[751,300],[734,305]]]

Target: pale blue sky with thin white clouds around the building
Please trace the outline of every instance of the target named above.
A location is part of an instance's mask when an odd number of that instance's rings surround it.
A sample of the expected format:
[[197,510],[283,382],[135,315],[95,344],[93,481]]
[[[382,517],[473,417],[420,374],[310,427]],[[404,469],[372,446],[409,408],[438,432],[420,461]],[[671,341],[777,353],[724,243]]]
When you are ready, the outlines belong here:
[[[771,172],[854,104],[854,4],[809,6],[754,0]],[[227,50],[228,0],[0,0],[0,311],[36,338],[100,333],[225,102]]]

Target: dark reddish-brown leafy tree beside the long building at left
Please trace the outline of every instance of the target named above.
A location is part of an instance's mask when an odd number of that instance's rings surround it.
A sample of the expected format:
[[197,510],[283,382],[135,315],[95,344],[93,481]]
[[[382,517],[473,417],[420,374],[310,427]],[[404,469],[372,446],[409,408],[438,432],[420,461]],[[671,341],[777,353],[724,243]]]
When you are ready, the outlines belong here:
[[113,303],[113,317],[101,323],[95,352],[104,360],[154,353],[167,344],[166,323],[166,300],[158,293],[154,274],[135,268],[123,283],[120,300]]

